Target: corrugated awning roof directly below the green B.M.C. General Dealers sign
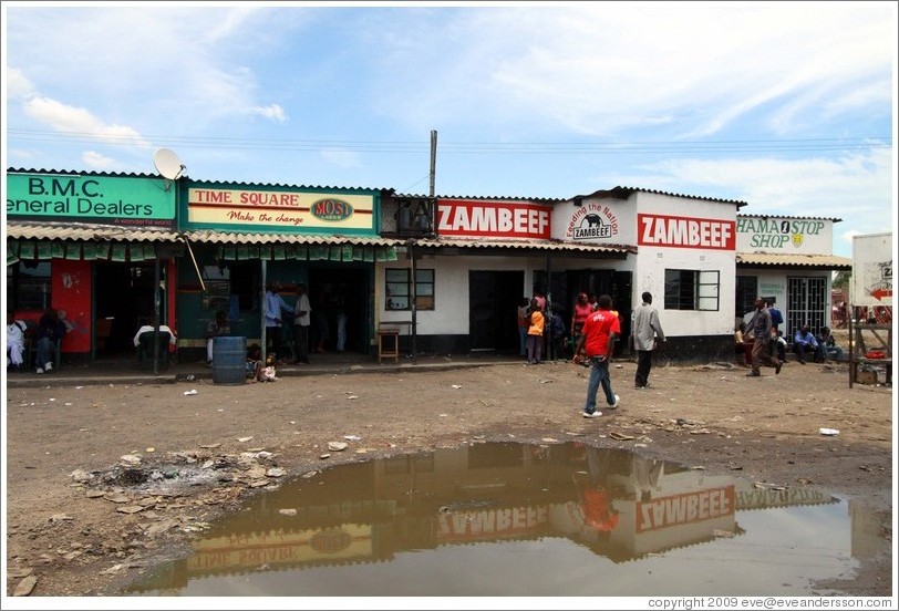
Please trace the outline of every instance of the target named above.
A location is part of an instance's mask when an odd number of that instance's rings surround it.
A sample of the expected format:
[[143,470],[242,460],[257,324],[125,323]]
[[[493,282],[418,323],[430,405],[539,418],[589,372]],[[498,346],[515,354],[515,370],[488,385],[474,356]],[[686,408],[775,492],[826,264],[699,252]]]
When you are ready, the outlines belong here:
[[8,238],[21,240],[180,241],[177,231],[165,227],[13,221],[4,230]]

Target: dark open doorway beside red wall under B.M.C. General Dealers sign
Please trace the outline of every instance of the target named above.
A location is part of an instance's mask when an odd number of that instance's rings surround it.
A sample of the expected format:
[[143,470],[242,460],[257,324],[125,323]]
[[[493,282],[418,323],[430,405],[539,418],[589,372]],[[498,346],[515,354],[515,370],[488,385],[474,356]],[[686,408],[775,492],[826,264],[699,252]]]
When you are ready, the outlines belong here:
[[[155,262],[94,265],[94,350],[97,359],[134,355],[134,334],[154,310]],[[165,267],[159,270],[165,279]],[[165,286],[165,283],[163,283]],[[165,293],[161,291],[161,323]]]

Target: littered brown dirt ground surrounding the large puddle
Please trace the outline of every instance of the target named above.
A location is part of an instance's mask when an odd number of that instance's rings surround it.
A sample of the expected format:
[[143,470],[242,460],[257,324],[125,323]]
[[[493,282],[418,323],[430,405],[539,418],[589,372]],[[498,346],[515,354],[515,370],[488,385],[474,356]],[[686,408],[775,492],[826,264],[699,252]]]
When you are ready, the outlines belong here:
[[[849,389],[845,364],[790,362],[779,375],[763,367],[762,377],[727,363],[657,366],[651,387],[636,391],[634,363],[612,367],[621,406],[596,420],[580,415],[588,370],[561,361],[244,386],[195,380],[8,389],[7,596],[116,596],[185,549],[192,524],[238,508],[258,494],[252,477],[265,479],[245,465],[246,477],[228,485],[195,481],[170,496],[140,497],[121,486],[130,466],[199,464],[251,449],[271,453],[266,469],[290,477],[475,437],[577,438],[753,481],[825,487],[875,511],[885,545],[857,578],[823,586],[896,596],[891,387]],[[361,437],[366,454],[350,448],[323,459],[328,442],[345,435]],[[117,480],[100,480],[113,472]],[[113,488],[126,494],[100,496]]]

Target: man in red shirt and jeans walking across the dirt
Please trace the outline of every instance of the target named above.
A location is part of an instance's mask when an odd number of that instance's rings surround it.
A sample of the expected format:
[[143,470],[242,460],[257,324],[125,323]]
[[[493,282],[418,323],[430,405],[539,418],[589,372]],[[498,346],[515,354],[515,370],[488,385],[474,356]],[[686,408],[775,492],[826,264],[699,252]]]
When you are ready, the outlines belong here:
[[583,405],[583,417],[596,418],[602,415],[597,411],[597,392],[602,386],[609,410],[618,407],[621,398],[612,392],[609,377],[609,363],[614,352],[614,340],[621,334],[621,321],[611,311],[612,298],[600,296],[599,309],[587,317],[578,345],[575,349],[575,363],[580,364],[580,349],[585,348],[590,360],[590,381],[587,383],[587,403]]

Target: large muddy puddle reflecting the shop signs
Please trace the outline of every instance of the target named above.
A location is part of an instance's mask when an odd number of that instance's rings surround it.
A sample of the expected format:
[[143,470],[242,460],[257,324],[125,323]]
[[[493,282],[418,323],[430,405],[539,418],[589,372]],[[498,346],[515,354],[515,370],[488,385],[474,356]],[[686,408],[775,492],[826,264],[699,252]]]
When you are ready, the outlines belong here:
[[474,444],[264,493],[126,593],[808,596],[857,566],[848,514],[626,451]]

